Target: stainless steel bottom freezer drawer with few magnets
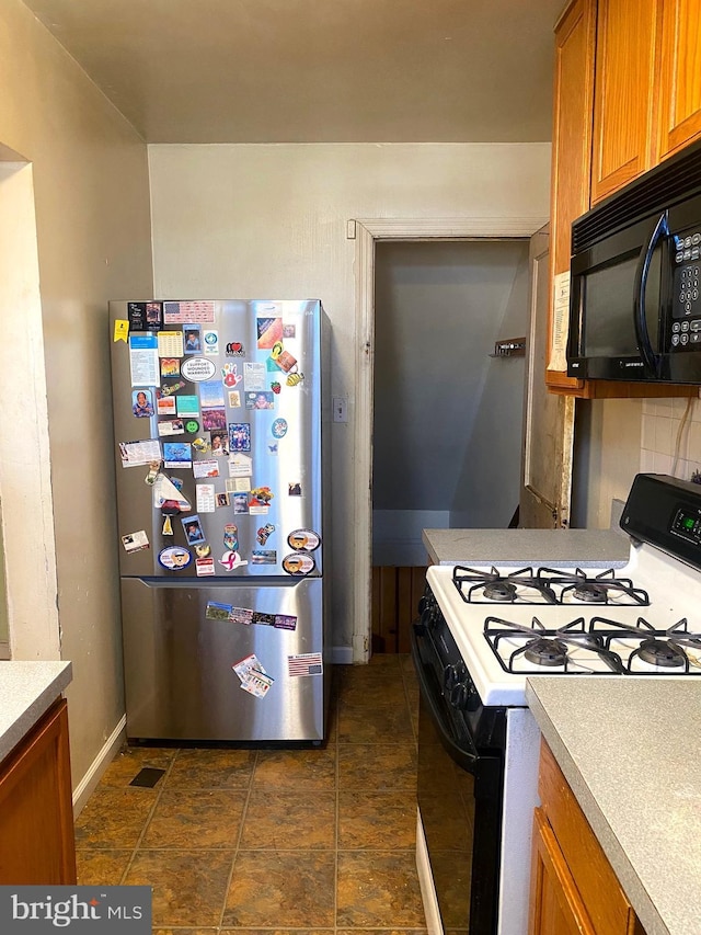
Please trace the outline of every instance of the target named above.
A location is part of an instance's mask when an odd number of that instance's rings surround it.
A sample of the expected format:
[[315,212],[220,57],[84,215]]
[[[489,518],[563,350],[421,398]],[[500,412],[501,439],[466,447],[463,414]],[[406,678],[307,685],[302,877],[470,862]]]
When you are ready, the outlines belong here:
[[[324,739],[331,666],[324,659],[321,579],[202,588],[123,579],[122,604],[129,738]],[[286,615],[295,629],[212,618],[222,615],[221,605]],[[251,653],[274,680],[263,697],[244,691],[232,669]],[[294,657],[304,653],[321,653],[320,674],[290,674],[300,671]]]

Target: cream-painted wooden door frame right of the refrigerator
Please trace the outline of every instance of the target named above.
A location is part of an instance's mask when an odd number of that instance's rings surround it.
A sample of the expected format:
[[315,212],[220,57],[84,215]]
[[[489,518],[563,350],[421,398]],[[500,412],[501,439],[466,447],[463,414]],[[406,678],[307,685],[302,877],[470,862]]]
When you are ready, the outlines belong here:
[[372,379],[375,247],[378,240],[509,240],[530,238],[548,223],[531,217],[354,218],[355,457],[353,470],[353,661],[370,658],[372,635]]

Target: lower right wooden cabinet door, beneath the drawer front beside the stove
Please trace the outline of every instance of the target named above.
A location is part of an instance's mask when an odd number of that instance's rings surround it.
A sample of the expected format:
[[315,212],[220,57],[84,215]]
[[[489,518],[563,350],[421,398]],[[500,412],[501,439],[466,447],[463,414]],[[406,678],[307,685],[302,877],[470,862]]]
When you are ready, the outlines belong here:
[[542,809],[533,814],[529,935],[596,935]]

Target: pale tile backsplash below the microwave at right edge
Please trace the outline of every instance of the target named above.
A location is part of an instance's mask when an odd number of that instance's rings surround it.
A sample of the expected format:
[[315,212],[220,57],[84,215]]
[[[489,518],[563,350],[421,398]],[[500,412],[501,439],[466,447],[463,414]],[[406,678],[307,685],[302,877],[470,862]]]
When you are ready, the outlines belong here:
[[640,469],[682,480],[701,471],[700,399],[643,400]]

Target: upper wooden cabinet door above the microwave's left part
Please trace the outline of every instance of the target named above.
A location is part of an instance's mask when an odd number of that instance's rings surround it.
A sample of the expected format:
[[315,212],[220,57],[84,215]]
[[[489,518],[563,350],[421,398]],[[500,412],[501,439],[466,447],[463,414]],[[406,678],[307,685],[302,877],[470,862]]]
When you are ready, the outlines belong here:
[[591,204],[653,164],[656,0],[599,0]]

